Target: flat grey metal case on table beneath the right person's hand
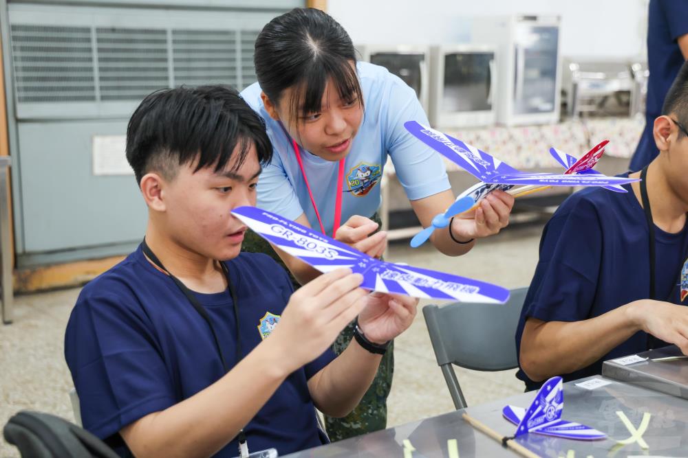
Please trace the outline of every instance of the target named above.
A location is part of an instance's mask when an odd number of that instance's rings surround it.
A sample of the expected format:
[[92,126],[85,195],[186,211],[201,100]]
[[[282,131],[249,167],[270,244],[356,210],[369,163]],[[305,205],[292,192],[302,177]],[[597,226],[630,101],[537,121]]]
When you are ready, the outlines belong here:
[[647,359],[629,365],[614,360],[605,361],[602,375],[688,399],[688,359],[674,358],[682,356],[678,347],[670,345],[638,353],[638,356]]

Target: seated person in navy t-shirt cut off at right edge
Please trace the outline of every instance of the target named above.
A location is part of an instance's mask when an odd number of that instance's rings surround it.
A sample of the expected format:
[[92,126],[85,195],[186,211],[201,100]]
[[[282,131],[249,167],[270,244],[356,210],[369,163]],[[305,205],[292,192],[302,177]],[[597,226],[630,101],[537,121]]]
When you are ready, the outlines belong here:
[[643,181],[627,193],[573,194],[542,233],[516,332],[528,390],[668,343],[688,354],[688,64],[662,113],[653,123],[659,156],[630,174]]

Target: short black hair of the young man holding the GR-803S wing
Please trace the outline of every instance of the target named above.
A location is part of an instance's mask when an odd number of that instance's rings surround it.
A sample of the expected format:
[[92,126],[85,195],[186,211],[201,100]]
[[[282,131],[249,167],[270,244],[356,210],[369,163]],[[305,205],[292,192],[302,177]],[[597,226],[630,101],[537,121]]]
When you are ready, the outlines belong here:
[[227,165],[239,148],[238,169],[250,146],[261,166],[272,159],[265,122],[228,86],[180,87],[155,91],[136,108],[127,127],[127,161],[141,183],[155,171],[173,179],[178,167],[197,159],[194,172]]

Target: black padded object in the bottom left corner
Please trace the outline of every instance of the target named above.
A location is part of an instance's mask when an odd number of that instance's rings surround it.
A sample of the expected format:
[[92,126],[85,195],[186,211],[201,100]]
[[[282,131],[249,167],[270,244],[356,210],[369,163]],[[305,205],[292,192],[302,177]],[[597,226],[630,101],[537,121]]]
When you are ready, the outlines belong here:
[[5,440],[31,458],[119,458],[98,437],[63,418],[21,411],[3,429]]

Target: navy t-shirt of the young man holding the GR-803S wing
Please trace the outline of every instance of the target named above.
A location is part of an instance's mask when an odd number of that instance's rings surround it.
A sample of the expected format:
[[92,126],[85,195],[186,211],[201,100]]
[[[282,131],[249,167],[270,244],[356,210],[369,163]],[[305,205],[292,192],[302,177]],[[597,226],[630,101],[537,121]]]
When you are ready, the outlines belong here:
[[[245,356],[279,320],[292,286],[264,254],[241,253],[226,265],[237,292]],[[233,367],[237,336],[230,294],[196,295]],[[317,428],[306,383],[334,357],[327,350],[280,385],[244,428],[250,450],[274,447],[284,455],[327,440]],[[123,426],[190,398],[224,375],[208,324],[141,247],[83,288],[67,324],[65,358],[84,427],[123,456],[129,453],[118,434]],[[215,456],[237,455],[233,441]]]

